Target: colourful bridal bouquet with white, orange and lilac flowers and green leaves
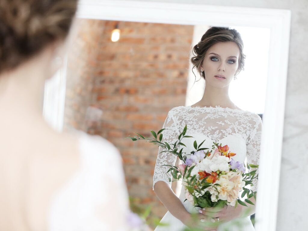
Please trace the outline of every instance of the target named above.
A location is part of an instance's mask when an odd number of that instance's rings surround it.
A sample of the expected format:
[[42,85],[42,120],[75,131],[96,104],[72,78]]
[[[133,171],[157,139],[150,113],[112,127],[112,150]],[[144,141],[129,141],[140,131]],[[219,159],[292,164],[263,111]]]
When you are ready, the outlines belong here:
[[[247,185],[253,185],[253,179],[257,178],[256,171],[253,170],[246,173],[245,164],[233,160],[236,153],[230,152],[228,145],[221,146],[213,142],[211,150],[209,148],[200,148],[204,141],[197,145],[194,141],[195,150],[186,154],[181,146],[186,147],[181,142],[182,138],[193,138],[192,136],[185,136],[187,125],[183,132],[178,137],[174,144],[161,142],[163,134],[151,130],[153,138],[144,137],[138,133],[134,137],[126,137],[136,140],[150,140],[150,143],[166,149],[162,152],[169,152],[176,155],[183,164],[178,166],[169,166],[168,172],[171,172],[175,180],[182,180],[185,187],[185,198],[190,201],[195,207],[216,207],[222,205],[237,206],[237,204],[247,206],[245,204],[253,204],[249,198],[256,199],[256,192],[245,188]],[[258,165],[249,164],[247,168],[258,168]],[[169,178],[171,181],[171,179]],[[240,191],[241,198],[239,197]],[[245,202],[241,199],[247,195]],[[185,200],[185,201],[186,201]]]

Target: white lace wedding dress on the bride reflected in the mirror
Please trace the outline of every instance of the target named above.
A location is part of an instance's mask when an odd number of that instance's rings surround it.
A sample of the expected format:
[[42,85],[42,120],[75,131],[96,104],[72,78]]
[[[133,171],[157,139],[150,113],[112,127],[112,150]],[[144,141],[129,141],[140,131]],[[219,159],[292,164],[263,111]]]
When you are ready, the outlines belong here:
[[[205,142],[201,147],[212,148],[213,141],[221,143],[222,146],[228,144],[230,151],[236,153],[232,158],[235,161],[244,163],[247,158],[247,164],[258,164],[260,155],[260,140],[262,121],[261,117],[249,111],[238,109],[216,107],[191,107],[179,106],[174,107],[168,112],[168,116],[164,122],[163,128],[168,128],[163,131],[163,140],[167,143],[175,143],[178,140],[180,132],[183,131],[187,124],[187,132],[185,136],[193,136],[194,138],[183,138],[187,148],[183,152],[190,154],[195,150],[193,142],[197,140],[197,144]],[[157,181],[165,181],[171,186],[168,178],[172,179],[171,173],[167,173],[169,167],[161,166],[164,164],[175,165],[176,156],[163,152],[163,148],[159,147],[156,160],[153,189]],[[247,171],[247,169],[246,169]],[[251,188],[256,190],[257,180],[254,180],[254,186]],[[184,197],[184,186],[182,186],[180,201],[183,203],[186,210],[190,213],[198,213],[197,208],[194,208],[192,203]],[[238,205],[241,206],[241,205]],[[157,226],[155,231],[180,231],[186,226],[173,217],[168,211],[161,220],[162,223],[167,223],[169,226]],[[241,228],[237,225],[240,222]],[[219,225],[217,231],[252,231],[254,227],[249,217],[237,218],[232,221]]]

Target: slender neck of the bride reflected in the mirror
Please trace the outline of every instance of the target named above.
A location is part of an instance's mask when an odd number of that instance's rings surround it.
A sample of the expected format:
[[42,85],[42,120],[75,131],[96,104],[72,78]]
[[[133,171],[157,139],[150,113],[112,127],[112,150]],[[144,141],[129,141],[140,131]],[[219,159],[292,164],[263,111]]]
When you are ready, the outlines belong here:
[[202,99],[198,102],[202,106],[218,106],[234,108],[234,103],[229,97],[229,85],[223,88],[212,87],[205,80],[205,90]]

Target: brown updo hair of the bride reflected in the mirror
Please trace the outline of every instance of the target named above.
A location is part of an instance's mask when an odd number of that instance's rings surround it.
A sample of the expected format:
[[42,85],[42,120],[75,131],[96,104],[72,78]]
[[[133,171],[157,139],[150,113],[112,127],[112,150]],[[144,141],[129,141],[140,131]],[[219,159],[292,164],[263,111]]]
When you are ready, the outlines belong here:
[[[219,42],[234,42],[237,44],[240,49],[240,57],[238,62],[238,68],[235,72],[235,75],[244,70],[244,59],[246,55],[243,54],[243,41],[241,39],[241,34],[235,30],[230,29],[229,27],[210,27],[205,34],[203,34],[200,42],[193,47],[192,58],[190,61],[193,63],[193,69],[196,68],[198,73],[201,73],[201,76],[205,79],[204,71],[200,71],[200,67],[205,57],[205,53],[209,50],[211,46]],[[192,69],[192,71],[193,71]],[[193,72],[194,73],[194,72]],[[195,73],[194,73],[195,75]],[[196,77],[196,75],[195,75]]]

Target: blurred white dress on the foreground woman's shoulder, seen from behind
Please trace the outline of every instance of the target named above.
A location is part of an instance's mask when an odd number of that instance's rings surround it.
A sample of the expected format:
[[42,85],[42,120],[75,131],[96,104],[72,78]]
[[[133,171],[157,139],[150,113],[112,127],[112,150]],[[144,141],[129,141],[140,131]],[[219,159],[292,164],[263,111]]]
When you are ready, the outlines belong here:
[[51,202],[48,231],[128,230],[128,192],[119,151],[100,136],[80,132],[79,153],[80,169]]

